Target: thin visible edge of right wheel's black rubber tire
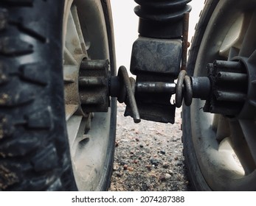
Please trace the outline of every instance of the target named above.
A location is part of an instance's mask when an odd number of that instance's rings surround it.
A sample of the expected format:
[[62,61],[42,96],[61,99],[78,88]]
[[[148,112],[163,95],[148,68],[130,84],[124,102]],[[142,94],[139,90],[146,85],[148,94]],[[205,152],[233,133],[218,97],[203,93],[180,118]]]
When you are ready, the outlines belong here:
[[[207,28],[208,21],[218,4],[219,0],[205,1],[204,10],[200,14],[200,19],[196,25],[195,35],[191,44],[189,59],[187,61],[187,74],[193,76],[200,48],[201,40]],[[182,106],[182,141],[184,145],[185,166],[187,168],[187,176],[190,180],[190,188],[196,191],[211,191],[210,186],[204,180],[204,176],[198,165],[195,148],[192,141],[190,107]]]

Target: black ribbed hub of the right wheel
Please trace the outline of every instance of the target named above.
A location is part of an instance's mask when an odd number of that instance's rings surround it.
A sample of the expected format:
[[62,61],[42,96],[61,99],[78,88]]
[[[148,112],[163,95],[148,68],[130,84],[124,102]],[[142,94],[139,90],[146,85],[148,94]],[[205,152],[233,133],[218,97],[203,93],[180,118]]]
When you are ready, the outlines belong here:
[[220,61],[207,65],[211,82],[204,112],[236,116],[246,100],[247,74],[240,61]]

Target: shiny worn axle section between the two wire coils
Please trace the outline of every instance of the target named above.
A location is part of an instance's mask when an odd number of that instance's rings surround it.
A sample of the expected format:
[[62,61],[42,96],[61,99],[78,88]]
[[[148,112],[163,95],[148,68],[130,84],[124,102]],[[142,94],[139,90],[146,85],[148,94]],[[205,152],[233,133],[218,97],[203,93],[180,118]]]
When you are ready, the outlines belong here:
[[137,82],[136,91],[143,93],[176,93],[176,84],[168,82]]

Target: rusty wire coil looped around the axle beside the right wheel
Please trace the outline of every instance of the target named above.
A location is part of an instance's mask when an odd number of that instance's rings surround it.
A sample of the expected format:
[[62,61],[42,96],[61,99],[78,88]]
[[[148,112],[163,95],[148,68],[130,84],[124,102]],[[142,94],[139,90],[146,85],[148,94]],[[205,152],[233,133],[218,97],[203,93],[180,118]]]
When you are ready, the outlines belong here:
[[190,106],[193,99],[193,88],[191,79],[187,75],[187,71],[181,70],[176,85],[176,107],[181,107],[183,98],[184,103],[187,106]]

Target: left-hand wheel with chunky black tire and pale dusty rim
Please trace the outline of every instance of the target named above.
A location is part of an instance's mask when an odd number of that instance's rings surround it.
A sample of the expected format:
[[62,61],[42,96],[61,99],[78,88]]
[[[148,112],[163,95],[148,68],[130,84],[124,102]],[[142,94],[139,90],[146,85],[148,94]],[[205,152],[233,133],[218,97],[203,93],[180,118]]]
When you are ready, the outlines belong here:
[[0,190],[107,190],[117,102],[88,111],[79,79],[116,74],[110,1],[1,1],[0,44]]

